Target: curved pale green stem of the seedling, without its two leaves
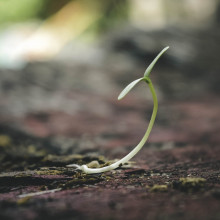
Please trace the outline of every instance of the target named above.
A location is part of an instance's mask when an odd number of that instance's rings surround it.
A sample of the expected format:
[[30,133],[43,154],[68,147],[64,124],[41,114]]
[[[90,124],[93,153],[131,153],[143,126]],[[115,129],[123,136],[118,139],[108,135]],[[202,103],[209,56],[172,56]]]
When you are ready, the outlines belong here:
[[156,95],[156,92],[154,90],[154,87],[153,87],[153,84],[152,84],[150,78],[149,77],[144,77],[143,80],[148,84],[148,86],[150,88],[150,91],[151,91],[151,94],[152,94],[152,97],[153,97],[154,108],[153,108],[153,112],[152,112],[152,115],[151,115],[151,119],[150,119],[150,122],[149,122],[149,125],[148,125],[148,128],[147,128],[147,131],[144,134],[142,140],[128,155],[126,155],[121,160],[119,160],[119,161],[117,161],[117,162],[115,162],[115,163],[113,163],[109,166],[102,167],[102,168],[88,168],[86,165],[80,166],[80,169],[84,173],[87,173],[87,174],[103,173],[103,172],[106,172],[106,171],[109,171],[109,170],[116,169],[119,166],[122,166],[124,163],[128,162],[132,157],[134,157],[141,150],[141,148],[144,146],[144,144],[146,143],[146,141],[147,141],[147,139],[150,135],[150,132],[152,130],[152,127],[154,125],[156,115],[157,115],[158,100],[157,100],[157,95]]

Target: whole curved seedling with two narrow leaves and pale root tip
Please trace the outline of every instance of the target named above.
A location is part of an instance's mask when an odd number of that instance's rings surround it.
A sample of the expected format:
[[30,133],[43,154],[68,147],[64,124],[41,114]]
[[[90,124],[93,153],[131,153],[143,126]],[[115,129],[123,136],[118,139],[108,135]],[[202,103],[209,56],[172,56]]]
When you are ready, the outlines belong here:
[[136,86],[139,82],[143,81],[145,82],[151,91],[152,97],[153,97],[153,102],[154,102],[154,107],[153,107],[153,112],[151,115],[151,119],[147,128],[147,131],[145,132],[143,138],[141,139],[140,143],[125,157],[123,157],[121,160],[109,165],[109,166],[105,166],[105,167],[101,167],[101,168],[89,168],[87,165],[82,165],[79,166],[77,164],[71,164],[68,165],[68,167],[75,167],[76,169],[81,170],[84,173],[87,174],[93,174],[93,173],[103,173],[106,171],[110,171],[110,170],[114,170],[120,166],[122,166],[123,164],[127,163],[131,158],[133,158],[140,150],[141,148],[144,146],[144,144],[146,143],[150,132],[152,130],[152,127],[154,125],[154,121],[157,115],[157,109],[158,109],[158,101],[157,101],[157,95],[156,92],[154,90],[153,87],[153,83],[151,82],[150,79],[150,73],[154,67],[154,65],[156,64],[156,62],[158,61],[158,59],[162,56],[162,54],[168,50],[169,47],[165,47],[158,55],[157,57],[153,60],[153,62],[148,66],[148,68],[146,69],[144,76],[134,80],[133,82],[131,82],[128,86],[125,87],[125,89],[120,93],[120,95],[118,96],[118,100],[121,100],[122,98],[124,98],[128,92],[134,88],[134,86]]

